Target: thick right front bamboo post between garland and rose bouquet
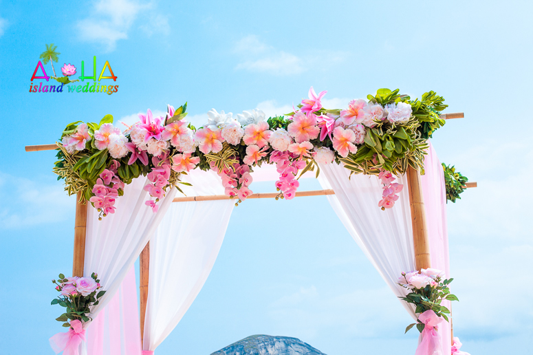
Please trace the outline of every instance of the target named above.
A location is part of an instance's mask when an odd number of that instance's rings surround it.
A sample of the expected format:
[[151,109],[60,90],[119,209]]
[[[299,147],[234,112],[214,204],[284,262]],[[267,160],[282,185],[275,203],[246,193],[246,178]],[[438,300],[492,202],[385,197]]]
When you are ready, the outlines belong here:
[[409,205],[411,206],[411,223],[413,224],[413,246],[415,249],[415,268],[431,268],[429,255],[428,224],[420,173],[411,166],[407,168],[407,183],[409,187]]

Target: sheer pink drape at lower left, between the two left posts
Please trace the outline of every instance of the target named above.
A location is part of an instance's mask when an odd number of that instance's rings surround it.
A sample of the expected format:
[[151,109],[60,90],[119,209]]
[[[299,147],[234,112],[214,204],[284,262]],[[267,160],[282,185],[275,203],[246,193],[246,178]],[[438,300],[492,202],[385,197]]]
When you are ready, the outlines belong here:
[[87,328],[87,355],[141,355],[134,267]]

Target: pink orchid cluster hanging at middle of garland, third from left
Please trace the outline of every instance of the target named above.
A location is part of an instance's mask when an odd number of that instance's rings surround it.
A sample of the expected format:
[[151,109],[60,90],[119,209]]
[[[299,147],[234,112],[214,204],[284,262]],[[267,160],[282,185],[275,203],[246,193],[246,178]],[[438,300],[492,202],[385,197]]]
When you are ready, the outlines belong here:
[[[235,157],[234,157],[235,158]],[[246,200],[253,191],[248,189],[248,186],[254,181],[250,174],[250,166],[248,164],[233,164],[231,168],[224,168],[221,171],[215,166],[214,162],[210,162],[211,170],[215,171],[222,179],[222,186],[224,186],[224,194],[230,197],[238,197],[239,201],[235,204],[239,204]]]

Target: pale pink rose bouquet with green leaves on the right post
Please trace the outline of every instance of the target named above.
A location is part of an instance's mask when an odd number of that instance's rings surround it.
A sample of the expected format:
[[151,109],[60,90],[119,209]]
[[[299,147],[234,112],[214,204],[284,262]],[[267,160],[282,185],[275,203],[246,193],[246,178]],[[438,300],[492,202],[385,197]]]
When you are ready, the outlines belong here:
[[[450,314],[450,310],[441,304],[442,300],[459,301],[455,294],[450,294],[448,285],[452,281],[453,279],[444,279],[443,271],[432,268],[422,269],[420,272],[402,272],[398,284],[411,292],[400,299],[407,303],[413,303],[416,307],[415,313],[424,314],[431,311],[435,316],[448,321],[446,314]],[[417,323],[412,323],[406,327],[405,332],[409,332],[415,325],[421,333],[426,327],[426,323],[419,317]]]

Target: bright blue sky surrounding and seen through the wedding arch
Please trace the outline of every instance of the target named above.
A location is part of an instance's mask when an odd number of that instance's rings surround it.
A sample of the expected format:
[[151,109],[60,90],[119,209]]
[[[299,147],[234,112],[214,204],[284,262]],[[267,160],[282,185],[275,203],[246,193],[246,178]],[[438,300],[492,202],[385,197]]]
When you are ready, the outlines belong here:
[[[1,1],[3,354],[53,354],[47,338],[62,328],[50,279],[72,270],[74,200],[52,174],[54,153],[25,153],[26,144],[52,143],[75,120],[131,120],[167,103],[188,101],[200,124],[211,108],[283,114],[311,85],[328,90],[331,107],[398,87],[434,90],[465,113],[433,139],[443,162],[479,183],[448,204],[455,334],[472,354],[530,354],[532,10],[528,1]],[[30,94],[45,43],[61,52],[56,72],[93,56],[100,72],[109,61],[118,92]],[[325,197],[245,204],[157,354],[210,354],[252,334],[295,336],[329,355],[413,354],[411,319]]]

